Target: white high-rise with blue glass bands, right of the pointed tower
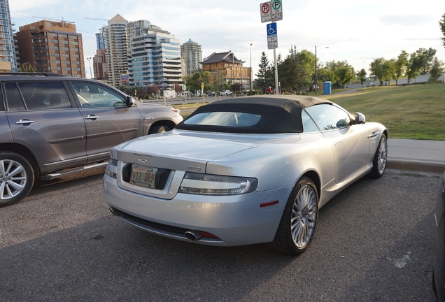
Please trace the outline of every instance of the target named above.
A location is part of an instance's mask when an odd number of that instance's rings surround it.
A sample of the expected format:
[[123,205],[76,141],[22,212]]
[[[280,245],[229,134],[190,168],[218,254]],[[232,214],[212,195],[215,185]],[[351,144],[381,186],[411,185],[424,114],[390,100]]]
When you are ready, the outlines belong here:
[[181,45],[174,35],[145,22],[134,27],[129,40],[130,86],[157,85],[166,90],[183,84]]

